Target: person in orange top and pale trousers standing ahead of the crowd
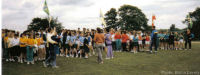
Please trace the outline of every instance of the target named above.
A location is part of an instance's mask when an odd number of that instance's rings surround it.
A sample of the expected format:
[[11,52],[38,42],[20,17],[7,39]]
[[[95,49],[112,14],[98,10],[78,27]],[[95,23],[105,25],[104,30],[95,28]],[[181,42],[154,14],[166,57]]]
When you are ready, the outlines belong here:
[[96,43],[96,49],[98,53],[97,61],[99,64],[103,64],[102,50],[104,47],[105,38],[100,28],[97,28],[97,33],[94,35],[94,42]]

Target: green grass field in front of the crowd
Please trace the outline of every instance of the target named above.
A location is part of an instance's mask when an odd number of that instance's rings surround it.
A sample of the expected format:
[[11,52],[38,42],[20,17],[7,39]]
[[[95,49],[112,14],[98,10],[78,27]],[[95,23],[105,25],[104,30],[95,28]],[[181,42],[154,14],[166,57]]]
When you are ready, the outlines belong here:
[[[159,50],[157,54],[115,52],[114,59],[98,64],[89,59],[57,57],[58,69],[44,68],[42,62],[34,65],[3,62],[3,75],[200,75],[200,43],[192,50]],[[105,56],[104,56],[105,58]]]

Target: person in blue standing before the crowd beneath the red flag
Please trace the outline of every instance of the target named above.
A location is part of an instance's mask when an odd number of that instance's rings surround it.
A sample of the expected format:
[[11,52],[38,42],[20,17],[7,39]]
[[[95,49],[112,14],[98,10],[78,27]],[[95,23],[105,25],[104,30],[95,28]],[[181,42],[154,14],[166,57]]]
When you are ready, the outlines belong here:
[[155,28],[156,28],[155,26],[152,27],[153,31],[151,33],[150,53],[153,53],[152,52],[153,45],[154,45],[154,48],[155,48],[155,53],[157,52],[157,43],[156,43],[156,41],[158,39],[157,38],[158,31]]

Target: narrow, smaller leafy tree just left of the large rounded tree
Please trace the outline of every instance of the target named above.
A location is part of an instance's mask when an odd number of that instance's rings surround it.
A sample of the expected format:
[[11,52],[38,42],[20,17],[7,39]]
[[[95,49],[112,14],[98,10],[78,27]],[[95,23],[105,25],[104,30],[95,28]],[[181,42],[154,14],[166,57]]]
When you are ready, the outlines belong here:
[[115,8],[111,8],[109,11],[107,11],[107,13],[105,14],[105,21],[107,24],[107,28],[117,28],[117,11]]

